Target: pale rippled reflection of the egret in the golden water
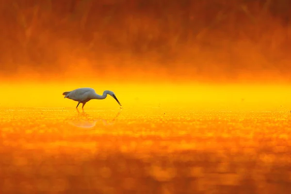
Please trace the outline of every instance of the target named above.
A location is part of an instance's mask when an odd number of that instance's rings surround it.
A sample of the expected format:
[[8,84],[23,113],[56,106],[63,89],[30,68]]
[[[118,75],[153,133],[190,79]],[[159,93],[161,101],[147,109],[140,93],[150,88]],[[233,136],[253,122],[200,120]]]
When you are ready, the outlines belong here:
[[68,124],[73,125],[79,128],[94,128],[97,123],[102,122],[103,125],[113,125],[115,123],[116,118],[121,113],[121,110],[116,114],[113,119],[105,119],[105,118],[94,118],[86,113],[84,110],[81,112],[77,110],[77,115],[75,115],[72,119],[68,120]]

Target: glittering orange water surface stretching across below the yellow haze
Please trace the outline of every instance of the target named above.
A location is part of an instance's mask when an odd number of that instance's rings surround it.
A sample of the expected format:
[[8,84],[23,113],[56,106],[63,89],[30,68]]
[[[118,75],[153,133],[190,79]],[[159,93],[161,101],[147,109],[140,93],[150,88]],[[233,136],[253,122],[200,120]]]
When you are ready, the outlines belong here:
[[1,109],[0,194],[289,194],[290,112]]

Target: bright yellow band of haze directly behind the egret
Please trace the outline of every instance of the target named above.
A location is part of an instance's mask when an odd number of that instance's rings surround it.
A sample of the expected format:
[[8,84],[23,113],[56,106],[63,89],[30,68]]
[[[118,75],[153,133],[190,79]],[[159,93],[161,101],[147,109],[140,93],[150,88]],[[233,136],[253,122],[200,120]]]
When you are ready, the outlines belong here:
[[[291,90],[288,85],[276,84],[201,84],[201,83],[116,83],[63,82],[2,83],[0,107],[60,107],[75,108],[77,102],[64,99],[65,91],[93,87],[97,94],[112,90],[124,109],[172,107],[193,111],[289,111]],[[91,100],[85,109],[118,108],[112,97]]]

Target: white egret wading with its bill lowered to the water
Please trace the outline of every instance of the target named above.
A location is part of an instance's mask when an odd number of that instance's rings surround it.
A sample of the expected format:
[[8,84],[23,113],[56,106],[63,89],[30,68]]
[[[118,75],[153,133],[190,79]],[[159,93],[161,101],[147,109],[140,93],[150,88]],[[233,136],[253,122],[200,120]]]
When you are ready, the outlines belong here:
[[84,108],[85,104],[89,100],[91,100],[91,99],[105,99],[107,97],[107,95],[112,96],[118,102],[118,104],[121,106],[121,104],[118,101],[118,99],[116,98],[115,94],[109,90],[105,90],[103,92],[103,95],[100,96],[100,95],[97,95],[95,90],[92,88],[78,88],[78,89],[72,90],[70,92],[64,92],[63,95],[65,96],[64,98],[69,98],[69,99],[72,99],[74,101],[77,101],[78,105],[76,108],[78,108],[80,103],[83,104],[82,108]]

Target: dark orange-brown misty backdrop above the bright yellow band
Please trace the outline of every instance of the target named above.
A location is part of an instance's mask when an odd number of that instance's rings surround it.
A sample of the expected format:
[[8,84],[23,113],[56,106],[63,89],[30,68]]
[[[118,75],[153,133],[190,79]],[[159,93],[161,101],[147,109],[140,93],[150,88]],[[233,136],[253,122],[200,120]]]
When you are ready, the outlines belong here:
[[290,81],[290,0],[2,0],[0,9],[6,81]]

